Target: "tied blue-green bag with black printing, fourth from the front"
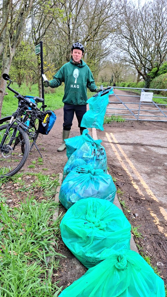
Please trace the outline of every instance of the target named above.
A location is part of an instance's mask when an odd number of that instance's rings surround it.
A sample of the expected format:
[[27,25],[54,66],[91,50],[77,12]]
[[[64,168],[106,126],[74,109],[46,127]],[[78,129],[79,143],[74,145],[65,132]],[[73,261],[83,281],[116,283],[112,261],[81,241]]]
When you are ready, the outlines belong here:
[[[102,140],[93,140],[85,136],[85,141],[68,159],[64,166],[63,176],[67,176],[74,168],[74,160],[81,160],[86,165],[91,165],[94,169],[102,169],[104,173],[107,173],[107,156],[104,147],[100,144]],[[76,166],[80,166],[81,163],[75,162]]]

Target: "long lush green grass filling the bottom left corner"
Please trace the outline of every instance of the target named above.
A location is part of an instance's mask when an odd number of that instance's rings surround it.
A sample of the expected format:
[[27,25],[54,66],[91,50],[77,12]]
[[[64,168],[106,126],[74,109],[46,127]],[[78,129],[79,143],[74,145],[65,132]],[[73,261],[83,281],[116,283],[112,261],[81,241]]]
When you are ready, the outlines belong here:
[[56,263],[48,265],[47,260],[60,255],[53,248],[59,233],[59,218],[52,220],[56,208],[54,201],[38,203],[33,198],[13,209],[1,203],[1,296],[51,297],[60,292],[58,282],[51,282]]

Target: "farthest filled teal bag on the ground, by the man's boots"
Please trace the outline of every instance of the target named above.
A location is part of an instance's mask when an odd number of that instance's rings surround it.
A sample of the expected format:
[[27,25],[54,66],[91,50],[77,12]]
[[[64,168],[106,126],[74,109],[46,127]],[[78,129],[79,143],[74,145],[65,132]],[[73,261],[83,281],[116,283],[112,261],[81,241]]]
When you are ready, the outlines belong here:
[[66,154],[68,159],[76,151],[76,149],[79,149],[83,145],[83,143],[85,143],[85,141],[94,141],[88,133],[88,129],[84,129],[82,135],[70,137],[64,140],[67,149]]

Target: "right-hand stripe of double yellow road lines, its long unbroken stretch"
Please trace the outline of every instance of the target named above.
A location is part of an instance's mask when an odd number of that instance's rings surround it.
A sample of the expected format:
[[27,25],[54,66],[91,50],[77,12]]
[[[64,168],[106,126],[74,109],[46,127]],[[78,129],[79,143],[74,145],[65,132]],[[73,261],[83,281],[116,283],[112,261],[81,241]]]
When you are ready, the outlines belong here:
[[154,199],[155,201],[159,202],[159,200],[157,199],[157,197],[155,197],[155,195],[153,194],[153,192],[149,189],[149,187],[147,186],[147,184],[145,183],[144,179],[141,177],[141,175],[138,173],[138,171],[136,170],[135,166],[133,165],[133,163],[130,161],[130,159],[128,159],[127,155],[124,153],[123,149],[121,148],[121,146],[118,144],[116,138],[114,137],[114,135],[112,133],[110,133],[112,139],[114,140],[114,142],[116,143],[118,149],[120,150],[120,152],[122,153],[122,155],[125,157],[126,161],[129,163],[130,167],[133,169],[133,171],[135,172],[136,176],[138,177],[138,179],[140,180],[141,184],[143,185],[144,189],[146,190],[147,194],[149,196],[152,197],[152,199]]

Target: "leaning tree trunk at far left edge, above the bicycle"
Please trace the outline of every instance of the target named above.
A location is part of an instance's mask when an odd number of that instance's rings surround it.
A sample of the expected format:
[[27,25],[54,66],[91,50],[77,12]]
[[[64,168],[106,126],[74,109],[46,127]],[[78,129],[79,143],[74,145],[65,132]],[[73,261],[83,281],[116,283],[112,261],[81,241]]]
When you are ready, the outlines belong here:
[[[33,0],[3,0],[2,5],[2,32],[0,38],[0,56],[2,57],[2,69],[1,72],[9,73],[12,58],[15,54],[15,50],[19,45],[24,28],[25,20],[31,9]],[[6,22],[8,20],[8,22]],[[2,102],[4,98],[6,87],[6,81],[1,78],[0,80],[0,116]]]

